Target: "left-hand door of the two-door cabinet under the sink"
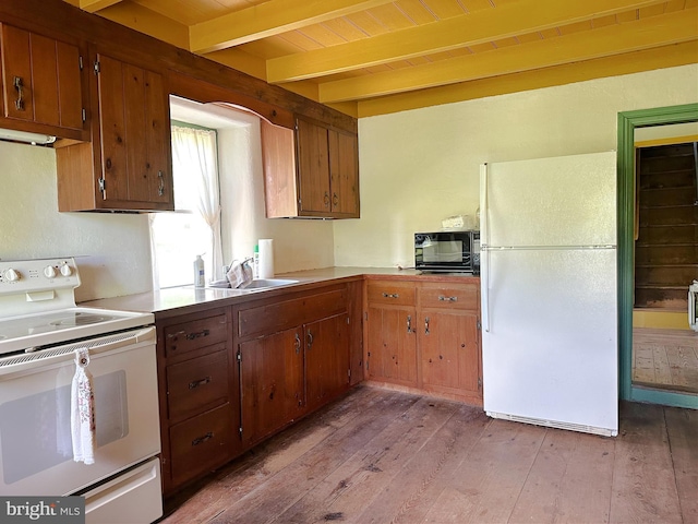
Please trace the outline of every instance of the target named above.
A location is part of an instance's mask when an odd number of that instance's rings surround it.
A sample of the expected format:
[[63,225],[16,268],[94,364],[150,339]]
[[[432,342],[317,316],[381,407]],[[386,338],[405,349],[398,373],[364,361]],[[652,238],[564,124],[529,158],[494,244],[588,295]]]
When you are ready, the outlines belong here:
[[245,448],[302,414],[301,336],[300,329],[292,329],[239,345]]

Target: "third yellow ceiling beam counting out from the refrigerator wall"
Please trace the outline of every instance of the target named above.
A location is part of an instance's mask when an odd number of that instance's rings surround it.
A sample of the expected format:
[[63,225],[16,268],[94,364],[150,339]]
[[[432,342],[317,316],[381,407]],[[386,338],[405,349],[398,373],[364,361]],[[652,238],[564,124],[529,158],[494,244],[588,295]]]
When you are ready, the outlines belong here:
[[585,2],[521,0],[438,23],[377,35],[360,43],[348,43],[306,53],[270,59],[267,60],[267,81],[280,83],[324,76],[525,33],[552,29],[558,25],[655,3],[663,2],[661,0],[586,0]]

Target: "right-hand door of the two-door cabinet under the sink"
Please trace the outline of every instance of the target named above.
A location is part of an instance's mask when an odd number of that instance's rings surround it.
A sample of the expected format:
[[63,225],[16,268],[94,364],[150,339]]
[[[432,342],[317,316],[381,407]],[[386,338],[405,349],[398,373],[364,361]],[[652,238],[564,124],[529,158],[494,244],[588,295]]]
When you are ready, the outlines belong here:
[[348,314],[305,324],[305,393],[309,409],[349,388]]

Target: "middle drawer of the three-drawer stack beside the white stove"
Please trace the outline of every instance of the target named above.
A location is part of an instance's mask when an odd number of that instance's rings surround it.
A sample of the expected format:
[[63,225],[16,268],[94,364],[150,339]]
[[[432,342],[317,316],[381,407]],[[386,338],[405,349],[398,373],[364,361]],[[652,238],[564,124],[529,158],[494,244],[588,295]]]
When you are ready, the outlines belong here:
[[208,407],[228,396],[228,353],[225,344],[210,355],[167,367],[167,406],[170,420]]

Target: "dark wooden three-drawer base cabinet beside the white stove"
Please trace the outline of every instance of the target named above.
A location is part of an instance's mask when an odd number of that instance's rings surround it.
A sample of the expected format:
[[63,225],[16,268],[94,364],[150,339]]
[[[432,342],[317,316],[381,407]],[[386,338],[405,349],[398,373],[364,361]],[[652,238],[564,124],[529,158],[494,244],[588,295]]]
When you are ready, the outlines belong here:
[[240,390],[230,308],[156,315],[163,491],[240,454]]

